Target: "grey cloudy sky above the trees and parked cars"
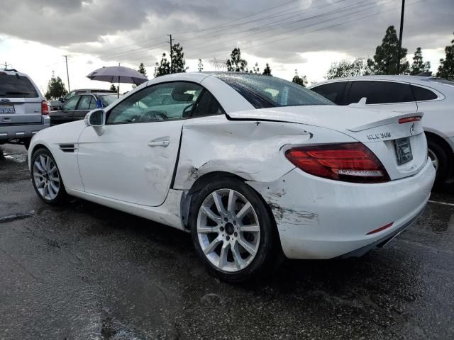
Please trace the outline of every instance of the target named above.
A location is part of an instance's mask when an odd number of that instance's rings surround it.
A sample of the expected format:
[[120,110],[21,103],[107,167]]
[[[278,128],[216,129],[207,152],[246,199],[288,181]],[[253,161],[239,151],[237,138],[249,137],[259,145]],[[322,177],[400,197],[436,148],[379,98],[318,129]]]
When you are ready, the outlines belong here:
[[[70,85],[92,70],[140,62],[153,77],[169,50],[167,34],[184,47],[189,71],[214,69],[240,47],[250,68],[269,63],[292,79],[295,69],[321,81],[331,62],[372,57],[389,25],[399,27],[401,0],[1,0],[0,63],[29,74],[43,91],[52,71]],[[438,67],[454,31],[454,0],[406,0],[403,46]],[[123,85],[122,89],[131,89]]]

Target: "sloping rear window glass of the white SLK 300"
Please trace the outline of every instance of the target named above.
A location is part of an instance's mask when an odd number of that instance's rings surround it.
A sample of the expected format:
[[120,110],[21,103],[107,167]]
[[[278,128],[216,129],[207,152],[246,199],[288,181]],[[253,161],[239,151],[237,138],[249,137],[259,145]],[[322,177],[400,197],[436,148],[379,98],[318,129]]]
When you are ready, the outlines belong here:
[[333,102],[284,79],[261,74],[216,74],[255,108],[334,105]]

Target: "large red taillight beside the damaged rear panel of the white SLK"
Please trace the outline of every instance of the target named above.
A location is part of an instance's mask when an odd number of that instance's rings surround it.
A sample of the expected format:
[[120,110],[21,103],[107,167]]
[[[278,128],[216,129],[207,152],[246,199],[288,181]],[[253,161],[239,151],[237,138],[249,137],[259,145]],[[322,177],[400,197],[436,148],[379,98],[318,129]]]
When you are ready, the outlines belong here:
[[355,183],[380,183],[389,181],[375,154],[361,143],[295,147],[285,152],[299,169],[308,174]]

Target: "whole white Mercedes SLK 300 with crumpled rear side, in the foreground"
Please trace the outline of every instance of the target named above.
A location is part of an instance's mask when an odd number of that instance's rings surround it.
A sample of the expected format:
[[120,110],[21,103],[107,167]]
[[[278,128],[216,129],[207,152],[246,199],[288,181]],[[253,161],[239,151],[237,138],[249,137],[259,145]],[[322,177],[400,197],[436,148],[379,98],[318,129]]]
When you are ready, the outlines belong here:
[[369,114],[276,77],[172,74],[38,132],[31,179],[191,232],[223,280],[282,259],[361,256],[421,214],[435,170],[422,113]]

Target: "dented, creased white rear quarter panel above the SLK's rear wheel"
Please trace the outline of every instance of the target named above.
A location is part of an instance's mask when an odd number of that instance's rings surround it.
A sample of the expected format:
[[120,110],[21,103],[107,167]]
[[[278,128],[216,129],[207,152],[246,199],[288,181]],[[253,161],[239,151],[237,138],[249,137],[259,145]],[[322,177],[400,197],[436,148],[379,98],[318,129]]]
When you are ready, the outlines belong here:
[[227,120],[224,115],[184,124],[174,188],[189,190],[200,176],[226,171],[247,181],[275,181],[294,169],[282,147],[311,139],[304,125]]

